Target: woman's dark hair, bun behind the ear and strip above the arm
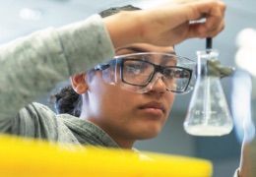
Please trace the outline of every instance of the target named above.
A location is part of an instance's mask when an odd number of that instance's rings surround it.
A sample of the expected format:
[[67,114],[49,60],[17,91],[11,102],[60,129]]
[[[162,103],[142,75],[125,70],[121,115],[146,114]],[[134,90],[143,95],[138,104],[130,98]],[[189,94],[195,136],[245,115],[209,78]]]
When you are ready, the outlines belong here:
[[[117,14],[120,11],[135,11],[141,10],[140,8],[134,7],[132,5],[127,5],[123,7],[109,8],[101,11],[99,15],[102,18]],[[71,86],[64,87],[60,89],[59,92],[52,95],[54,99],[54,107],[58,114],[70,114],[79,117],[81,114],[82,107],[82,96],[78,94]]]

